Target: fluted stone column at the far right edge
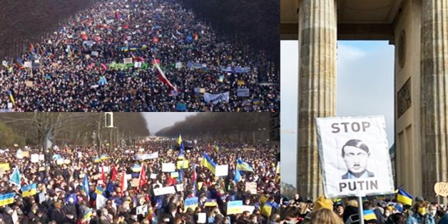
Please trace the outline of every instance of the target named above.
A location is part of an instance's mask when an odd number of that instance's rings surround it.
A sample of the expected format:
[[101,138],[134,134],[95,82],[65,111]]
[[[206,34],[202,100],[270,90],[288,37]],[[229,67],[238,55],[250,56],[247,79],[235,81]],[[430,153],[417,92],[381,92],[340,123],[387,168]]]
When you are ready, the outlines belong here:
[[[448,2],[422,1],[421,133],[423,197],[435,200],[434,183],[447,181]],[[446,198],[438,197],[446,204]]]

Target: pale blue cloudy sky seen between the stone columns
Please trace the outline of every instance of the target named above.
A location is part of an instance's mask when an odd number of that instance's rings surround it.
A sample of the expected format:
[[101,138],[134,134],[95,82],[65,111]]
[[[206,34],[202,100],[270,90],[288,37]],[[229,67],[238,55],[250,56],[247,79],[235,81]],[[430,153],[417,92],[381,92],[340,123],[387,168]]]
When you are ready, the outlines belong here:
[[[281,41],[282,182],[296,185],[298,41]],[[394,46],[338,41],[337,116],[384,115],[394,143]]]

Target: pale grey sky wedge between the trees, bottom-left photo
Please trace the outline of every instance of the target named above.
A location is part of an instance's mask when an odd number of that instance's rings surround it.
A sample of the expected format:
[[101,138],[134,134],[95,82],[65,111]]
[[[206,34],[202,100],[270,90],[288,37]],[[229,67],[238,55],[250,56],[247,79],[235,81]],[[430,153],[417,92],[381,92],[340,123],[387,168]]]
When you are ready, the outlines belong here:
[[155,134],[157,131],[164,127],[174,125],[178,121],[185,120],[185,117],[194,115],[195,112],[147,112],[143,113],[148,124],[151,134]]

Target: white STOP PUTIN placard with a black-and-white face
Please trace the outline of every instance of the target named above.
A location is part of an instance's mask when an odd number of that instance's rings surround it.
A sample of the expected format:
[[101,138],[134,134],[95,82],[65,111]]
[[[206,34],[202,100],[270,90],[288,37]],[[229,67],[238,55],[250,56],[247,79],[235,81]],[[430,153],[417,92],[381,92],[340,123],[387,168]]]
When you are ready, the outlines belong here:
[[384,116],[316,118],[327,198],[394,193]]

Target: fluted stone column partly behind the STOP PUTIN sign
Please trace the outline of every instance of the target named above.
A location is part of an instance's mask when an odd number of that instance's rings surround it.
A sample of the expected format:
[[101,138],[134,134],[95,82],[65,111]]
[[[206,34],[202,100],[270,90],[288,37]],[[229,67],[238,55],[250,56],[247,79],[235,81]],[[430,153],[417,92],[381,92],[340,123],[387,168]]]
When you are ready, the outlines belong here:
[[299,5],[297,189],[313,200],[323,193],[315,118],[335,114],[336,2],[302,0]]

